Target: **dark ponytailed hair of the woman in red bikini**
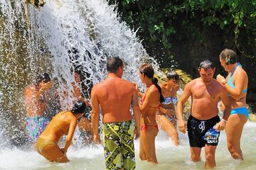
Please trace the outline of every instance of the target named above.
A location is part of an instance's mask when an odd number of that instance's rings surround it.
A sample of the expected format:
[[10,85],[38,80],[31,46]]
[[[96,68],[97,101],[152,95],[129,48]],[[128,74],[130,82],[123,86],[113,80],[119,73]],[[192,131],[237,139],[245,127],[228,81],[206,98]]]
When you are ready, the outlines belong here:
[[157,84],[158,83],[158,79],[156,79],[154,77],[154,69],[151,66],[151,64],[142,64],[139,67],[139,72],[141,72],[141,74],[144,74],[146,77],[149,77],[149,79],[151,79],[151,81],[153,82],[153,84],[156,86],[156,88],[159,90],[160,93],[160,102],[164,102],[164,96],[161,94],[161,87]]

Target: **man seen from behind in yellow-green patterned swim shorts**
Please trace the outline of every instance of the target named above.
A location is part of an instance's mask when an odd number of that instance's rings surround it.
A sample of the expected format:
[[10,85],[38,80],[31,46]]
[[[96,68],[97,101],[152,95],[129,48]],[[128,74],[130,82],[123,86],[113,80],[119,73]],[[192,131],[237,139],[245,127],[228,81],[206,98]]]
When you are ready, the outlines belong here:
[[[134,133],[139,137],[140,111],[136,85],[122,79],[124,64],[118,57],[107,60],[107,79],[92,87],[92,129],[100,144],[100,107],[106,169],[135,169]],[[129,109],[132,106],[135,125]]]

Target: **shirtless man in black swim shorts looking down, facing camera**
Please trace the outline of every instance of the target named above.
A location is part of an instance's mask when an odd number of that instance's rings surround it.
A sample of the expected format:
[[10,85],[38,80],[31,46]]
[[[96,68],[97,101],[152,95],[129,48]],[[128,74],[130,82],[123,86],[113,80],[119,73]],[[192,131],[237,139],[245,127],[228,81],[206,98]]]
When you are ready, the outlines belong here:
[[[191,147],[191,160],[200,161],[201,148],[205,147],[206,168],[211,168],[215,163],[215,150],[218,145],[220,130],[224,130],[225,123],[230,115],[230,102],[227,91],[215,79],[213,74],[215,67],[212,62],[205,60],[201,62],[198,69],[200,77],[190,81],[183,91],[181,98],[177,103],[178,129],[185,133],[186,123],[183,120],[183,105],[191,96],[191,115],[188,118],[188,138]],[[219,98],[225,105],[223,118],[218,116]],[[215,135],[208,135],[207,131],[215,126]]]

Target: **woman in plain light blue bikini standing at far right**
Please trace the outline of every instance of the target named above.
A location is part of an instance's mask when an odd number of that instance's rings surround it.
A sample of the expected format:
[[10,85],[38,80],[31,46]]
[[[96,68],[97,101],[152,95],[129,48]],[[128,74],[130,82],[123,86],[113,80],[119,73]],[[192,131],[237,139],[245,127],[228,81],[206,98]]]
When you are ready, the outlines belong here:
[[240,139],[242,128],[249,117],[246,108],[248,77],[233,50],[225,49],[220,53],[220,64],[228,72],[228,77],[224,78],[218,74],[217,80],[227,89],[232,107],[228,123],[225,126],[228,150],[234,159],[243,160]]

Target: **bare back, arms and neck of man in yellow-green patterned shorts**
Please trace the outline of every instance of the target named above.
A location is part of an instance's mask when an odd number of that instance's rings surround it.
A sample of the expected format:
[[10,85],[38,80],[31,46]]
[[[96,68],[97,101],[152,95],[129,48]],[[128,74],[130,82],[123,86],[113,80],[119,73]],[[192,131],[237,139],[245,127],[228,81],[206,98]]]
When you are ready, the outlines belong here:
[[[94,141],[100,144],[98,132],[100,108],[102,108],[103,123],[119,123],[132,120],[130,106],[134,112],[135,140],[139,138],[140,111],[135,84],[122,79],[124,67],[119,67],[116,73],[108,72],[107,79],[92,87],[92,128]],[[122,114],[121,114],[122,113]]]

